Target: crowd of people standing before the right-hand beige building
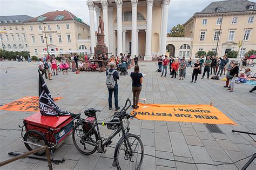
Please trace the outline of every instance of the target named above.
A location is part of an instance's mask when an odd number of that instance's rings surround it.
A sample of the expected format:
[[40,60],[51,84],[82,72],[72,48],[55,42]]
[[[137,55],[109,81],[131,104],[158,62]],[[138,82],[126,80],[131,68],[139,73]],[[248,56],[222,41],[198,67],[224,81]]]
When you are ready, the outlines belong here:
[[[242,59],[241,72],[239,73],[238,62],[231,61],[227,56],[216,57],[216,56],[200,56],[195,63],[192,63],[192,59],[188,60],[185,57],[170,57],[168,56],[159,56],[158,57],[158,70],[161,72],[161,77],[164,75],[166,77],[167,67],[170,69],[171,78],[176,78],[179,72],[179,80],[184,80],[186,77],[186,68],[191,66],[193,68],[192,79],[190,83],[196,83],[198,74],[202,74],[201,79],[206,76],[207,79],[210,79],[210,74],[214,74],[212,79],[219,79],[219,77],[226,76],[225,88],[230,92],[234,90],[235,83],[246,83],[247,80],[256,80],[255,74],[253,75],[250,68],[245,68],[247,65],[247,59]],[[245,69],[245,72],[242,71]]]

